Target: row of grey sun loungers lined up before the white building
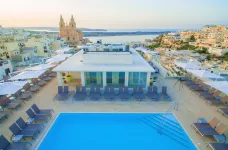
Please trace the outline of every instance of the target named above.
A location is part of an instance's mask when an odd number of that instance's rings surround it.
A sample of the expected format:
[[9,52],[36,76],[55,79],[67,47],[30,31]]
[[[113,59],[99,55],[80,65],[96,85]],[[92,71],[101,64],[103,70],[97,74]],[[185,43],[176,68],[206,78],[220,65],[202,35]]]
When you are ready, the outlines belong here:
[[[91,87],[89,91],[89,98],[91,100],[98,100],[101,97],[102,93],[100,91],[99,87]],[[162,87],[162,93],[158,93],[158,89],[156,86],[154,87],[148,87],[147,96],[150,99],[158,100],[160,96],[163,96],[164,98],[169,98],[169,95],[167,93],[167,87]],[[87,91],[85,87],[76,87],[76,92],[73,95],[73,99],[75,100],[84,100],[87,96]],[[131,97],[133,97],[136,100],[144,100],[146,99],[143,88],[133,88],[133,92],[131,93],[128,89],[128,87],[120,87],[119,91],[116,93],[114,91],[113,87],[105,87],[104,93],[103,93],[104,99],[107,100],[113,100],[115,98],[120,98],[122,100],[129,100]],[[58,87],[58,94],[55,98],[60,100],[65,100],[69,97],[69,87],[68,86],[59,86]]]

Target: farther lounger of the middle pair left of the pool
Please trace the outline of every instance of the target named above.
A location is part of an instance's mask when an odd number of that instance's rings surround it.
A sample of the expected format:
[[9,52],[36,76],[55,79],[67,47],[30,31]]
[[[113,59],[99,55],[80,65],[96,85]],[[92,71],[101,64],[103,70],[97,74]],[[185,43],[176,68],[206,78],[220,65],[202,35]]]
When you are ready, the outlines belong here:
[[16,124],[22,130],[38,130],[38,131],[40,131],[42,128],[44,128],[43,124],[27,124],[21,117],[17,119]]

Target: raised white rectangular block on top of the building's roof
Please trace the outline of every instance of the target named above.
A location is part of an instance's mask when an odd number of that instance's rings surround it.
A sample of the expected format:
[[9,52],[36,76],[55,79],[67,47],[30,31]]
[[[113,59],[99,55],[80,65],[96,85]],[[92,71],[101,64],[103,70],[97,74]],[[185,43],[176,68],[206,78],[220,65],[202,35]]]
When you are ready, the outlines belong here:
[[87,52],[83,54],[85,64],[132,64],[129,52]]

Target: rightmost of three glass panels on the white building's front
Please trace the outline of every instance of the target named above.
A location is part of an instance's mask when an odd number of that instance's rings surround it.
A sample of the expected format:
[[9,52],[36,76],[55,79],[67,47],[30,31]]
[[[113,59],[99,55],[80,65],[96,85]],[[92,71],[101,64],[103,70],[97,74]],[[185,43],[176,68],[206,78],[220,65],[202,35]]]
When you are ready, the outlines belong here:
[[146,87],[147,72],[129,72],[128,86]]

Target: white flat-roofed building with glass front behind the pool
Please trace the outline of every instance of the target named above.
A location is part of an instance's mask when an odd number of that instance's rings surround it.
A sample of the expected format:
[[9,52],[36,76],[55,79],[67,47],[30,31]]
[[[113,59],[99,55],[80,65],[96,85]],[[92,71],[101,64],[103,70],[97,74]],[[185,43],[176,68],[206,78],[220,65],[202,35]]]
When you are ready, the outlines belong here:
[[[117,51],[117,47],[112,46],[111,51],[107,46],[103,47],[103,51],[81,50],[54,68],[58,74],[58,84],[82,85],[87,88],[149,86],[151,72],[154,72],[154,69],[135,49],[122,50],[118,46],[120,51]],[[70,74],[72,81],[66,83],[64,73]]]

